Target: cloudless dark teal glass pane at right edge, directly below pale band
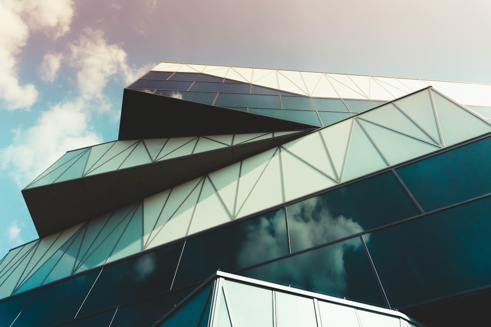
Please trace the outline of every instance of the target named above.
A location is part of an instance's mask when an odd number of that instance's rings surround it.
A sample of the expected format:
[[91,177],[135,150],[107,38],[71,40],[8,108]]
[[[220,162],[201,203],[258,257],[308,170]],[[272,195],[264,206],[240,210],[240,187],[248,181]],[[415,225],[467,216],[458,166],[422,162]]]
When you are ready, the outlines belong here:
[[423,210],[491,192],[491,137],[396,169]]

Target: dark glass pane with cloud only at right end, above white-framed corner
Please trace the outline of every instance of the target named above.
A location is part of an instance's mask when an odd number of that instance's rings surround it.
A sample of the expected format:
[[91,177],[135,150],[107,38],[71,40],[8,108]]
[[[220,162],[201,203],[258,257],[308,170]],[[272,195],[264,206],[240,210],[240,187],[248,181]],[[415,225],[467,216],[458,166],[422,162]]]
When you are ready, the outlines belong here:
[[217,270],[234,272],[287,253],[285,211],[279,209],[188,239],[173,287],[202,281]]

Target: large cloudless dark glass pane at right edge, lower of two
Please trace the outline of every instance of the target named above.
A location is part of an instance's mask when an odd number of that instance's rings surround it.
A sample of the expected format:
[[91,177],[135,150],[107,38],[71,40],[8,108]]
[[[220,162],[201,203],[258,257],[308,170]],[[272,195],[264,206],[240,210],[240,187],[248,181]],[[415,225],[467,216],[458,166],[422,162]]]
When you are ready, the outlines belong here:
[[491,197],[364,235],[392,307],[491,284]]

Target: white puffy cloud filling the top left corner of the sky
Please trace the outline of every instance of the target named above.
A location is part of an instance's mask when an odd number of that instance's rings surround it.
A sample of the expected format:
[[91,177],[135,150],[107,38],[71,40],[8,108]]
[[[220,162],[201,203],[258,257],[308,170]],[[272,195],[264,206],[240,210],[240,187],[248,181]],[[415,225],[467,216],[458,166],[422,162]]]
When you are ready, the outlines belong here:
[[73,17],[71,0],[2,0],[0,1],[0,99],[7,109],[31,106],[38,98],[32,83],[19,81],[17,55],[34,30],[51,32],[59,37],[67,33]]

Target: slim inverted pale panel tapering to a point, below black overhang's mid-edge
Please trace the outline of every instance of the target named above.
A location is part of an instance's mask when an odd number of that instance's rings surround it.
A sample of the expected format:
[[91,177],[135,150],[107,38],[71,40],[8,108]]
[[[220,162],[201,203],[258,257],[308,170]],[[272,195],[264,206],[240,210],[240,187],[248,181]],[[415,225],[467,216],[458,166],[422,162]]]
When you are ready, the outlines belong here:
[[276,149],[271,149],[242,161],[241,177],[239,179],[239,190],[237,192],[236,215],[238,210],[246,201],[252,187],[256,184],[259,176],[263,173],[266,164],[270,161]]

